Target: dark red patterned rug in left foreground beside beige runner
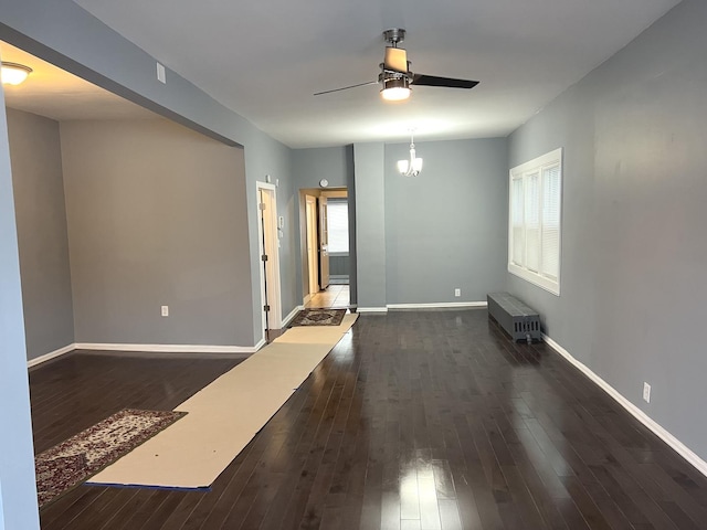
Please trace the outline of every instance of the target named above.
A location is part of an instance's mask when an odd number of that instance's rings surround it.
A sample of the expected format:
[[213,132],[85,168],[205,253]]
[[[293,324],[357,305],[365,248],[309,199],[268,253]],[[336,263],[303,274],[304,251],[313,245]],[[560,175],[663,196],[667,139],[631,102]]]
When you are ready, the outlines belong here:
[[40,508],[83,484],[186,412],[126,409],[34,458]]

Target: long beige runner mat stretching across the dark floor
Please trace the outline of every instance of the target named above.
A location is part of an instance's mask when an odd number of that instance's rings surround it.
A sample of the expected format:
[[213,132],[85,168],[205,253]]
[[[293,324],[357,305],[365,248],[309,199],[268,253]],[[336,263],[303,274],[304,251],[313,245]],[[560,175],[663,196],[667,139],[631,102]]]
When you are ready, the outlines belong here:
[[196,393],[179,422],[137,447],[88,484],[205,488],[243,451],[351,328],[296,327]]

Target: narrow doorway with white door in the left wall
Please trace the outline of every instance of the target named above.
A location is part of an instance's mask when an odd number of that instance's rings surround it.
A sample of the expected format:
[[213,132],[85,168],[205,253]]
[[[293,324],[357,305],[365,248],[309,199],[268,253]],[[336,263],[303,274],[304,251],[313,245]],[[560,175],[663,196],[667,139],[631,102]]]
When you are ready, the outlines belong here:
[[258,247],[261,256],[261,299],[265,338],[282,328],[279,290],[279,237],[275,187],[257,183]]

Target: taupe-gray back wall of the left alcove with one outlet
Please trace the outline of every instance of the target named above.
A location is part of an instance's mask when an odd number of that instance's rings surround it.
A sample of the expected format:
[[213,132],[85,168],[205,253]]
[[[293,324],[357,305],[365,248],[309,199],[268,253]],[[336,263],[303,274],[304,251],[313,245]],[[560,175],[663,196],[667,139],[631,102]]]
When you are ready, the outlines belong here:
[[165,119],[61,137],[76,341],[252,346],[243,150]]

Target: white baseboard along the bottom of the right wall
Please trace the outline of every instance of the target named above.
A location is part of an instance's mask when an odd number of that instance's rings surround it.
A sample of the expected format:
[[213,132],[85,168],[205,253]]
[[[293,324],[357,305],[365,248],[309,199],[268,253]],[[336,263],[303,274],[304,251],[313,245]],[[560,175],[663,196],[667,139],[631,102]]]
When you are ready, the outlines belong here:
[[550,346],[553,350],[556,350],[560,356],[567,359],[573,367],[576,367],[580,372],[587,375],[591,381],[593,381],[600,389],[606,392],[616,403],[623,406],[626,411],[629,411],[636,420],[643,423],[647,428],[650,428],[658,438],[669,445],[678,455],[685,458],[689,464],[692,464],[699,473],[707,476],[707,462],[701,459],[698,455],[696,455],[689,447],[683,444],[679,439],[673,436],[668,431],[666,431],[663,426],[656,423],[645,412],[639,409],[636,405],[631,403],[626,398],[624,398],[616,389],[614,389],[606,381],[601,379],[597,373],[594,373],[589,367],[577,360],[571,356],[569,351],[558,344],[555,340],[552,340],[547,335],[542,335],[542,339],[545,342]]

